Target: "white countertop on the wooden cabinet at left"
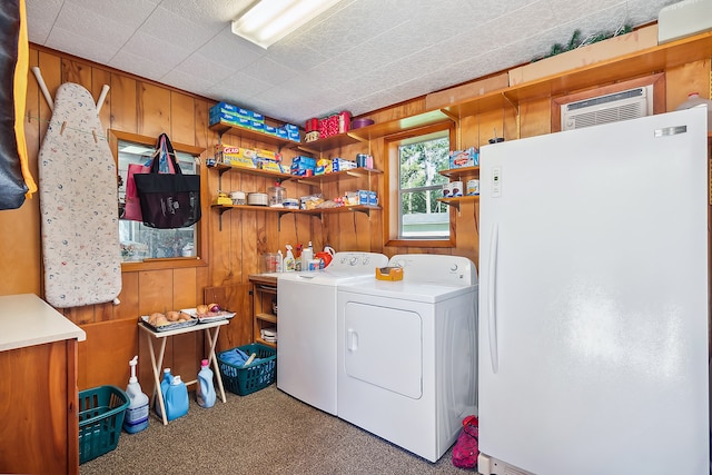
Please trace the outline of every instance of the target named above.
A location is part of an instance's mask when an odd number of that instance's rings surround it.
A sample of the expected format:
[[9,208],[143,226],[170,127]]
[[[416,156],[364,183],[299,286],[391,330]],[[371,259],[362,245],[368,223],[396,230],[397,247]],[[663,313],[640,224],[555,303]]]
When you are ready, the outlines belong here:
[[0,296],[0,352],[87,334],[34,294]]

